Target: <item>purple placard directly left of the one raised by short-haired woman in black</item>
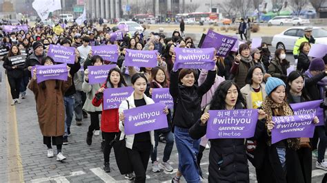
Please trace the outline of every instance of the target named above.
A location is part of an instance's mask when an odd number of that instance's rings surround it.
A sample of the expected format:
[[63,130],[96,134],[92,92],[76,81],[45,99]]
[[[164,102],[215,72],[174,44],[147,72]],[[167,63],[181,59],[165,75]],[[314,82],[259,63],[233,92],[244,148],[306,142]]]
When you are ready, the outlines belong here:
[[156,67],[157,50],[145,51],[126,49],[124,64],[126,66]]

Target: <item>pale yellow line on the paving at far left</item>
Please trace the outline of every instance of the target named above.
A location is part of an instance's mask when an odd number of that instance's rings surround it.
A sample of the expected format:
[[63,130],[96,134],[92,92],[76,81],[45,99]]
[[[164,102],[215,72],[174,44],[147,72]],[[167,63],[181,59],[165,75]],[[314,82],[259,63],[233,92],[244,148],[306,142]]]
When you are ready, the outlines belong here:
[[9,90],[8,79],[6,80],[7,90],[7,145],[8,145],[8,182],[24,182],[23,164],[21,162],[21,153],[19,150],[19,135],[17,129],[16,107],[10,105],[12,98]]

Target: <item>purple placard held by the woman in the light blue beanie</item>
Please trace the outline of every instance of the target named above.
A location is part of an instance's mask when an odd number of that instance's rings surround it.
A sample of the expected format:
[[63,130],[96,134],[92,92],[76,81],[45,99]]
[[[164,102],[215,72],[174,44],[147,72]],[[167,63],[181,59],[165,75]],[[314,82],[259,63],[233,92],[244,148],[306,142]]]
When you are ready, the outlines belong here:
[[271,143],[275,144],[286,138],[312,138],[315,132],[313,118],[315,114],[273,116],[275,127],[271,131]]

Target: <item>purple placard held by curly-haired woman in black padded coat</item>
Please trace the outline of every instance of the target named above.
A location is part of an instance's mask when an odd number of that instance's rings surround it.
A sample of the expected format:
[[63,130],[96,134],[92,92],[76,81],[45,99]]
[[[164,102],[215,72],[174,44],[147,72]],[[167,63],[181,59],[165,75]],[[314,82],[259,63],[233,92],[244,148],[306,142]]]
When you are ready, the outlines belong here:
[[251,138],[255,135],[258,109],[209,110],[206,137]]

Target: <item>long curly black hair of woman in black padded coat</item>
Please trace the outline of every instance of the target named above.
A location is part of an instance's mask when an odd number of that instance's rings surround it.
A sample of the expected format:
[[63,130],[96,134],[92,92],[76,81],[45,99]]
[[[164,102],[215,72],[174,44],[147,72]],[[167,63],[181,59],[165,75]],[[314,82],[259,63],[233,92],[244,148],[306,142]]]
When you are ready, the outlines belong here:
[[222,83],[220,83],[220,85],[217,87],[216,92],[213,95],[212,100],[210,102],[210,110],[226,109],[225,99],[227,96],[228,89],[230,89],[232,85],[235,85],[237,92],[239,93],[237,96],[236,105],[245,106],[244,98],[242,97],[241,91],[239,90],[239,87],[237,87],[236,83],[232,80],[225,80]]

